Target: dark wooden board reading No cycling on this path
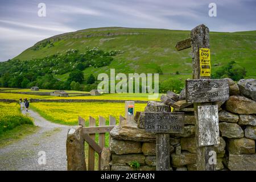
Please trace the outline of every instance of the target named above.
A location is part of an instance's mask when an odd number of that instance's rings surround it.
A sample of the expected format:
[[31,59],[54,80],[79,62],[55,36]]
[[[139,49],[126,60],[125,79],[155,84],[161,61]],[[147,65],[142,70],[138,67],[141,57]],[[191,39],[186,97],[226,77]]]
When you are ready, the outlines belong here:
[[183,133],[184,113],[146,112],[145,130],[149,133]]

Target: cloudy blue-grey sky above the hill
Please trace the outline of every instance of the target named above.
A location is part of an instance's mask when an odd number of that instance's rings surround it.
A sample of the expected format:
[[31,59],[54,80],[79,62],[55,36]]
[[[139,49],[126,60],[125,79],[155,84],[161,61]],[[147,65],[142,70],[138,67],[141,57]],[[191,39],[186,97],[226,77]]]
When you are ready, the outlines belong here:
[[[46,5],[46,16],[38,11]],[[209,16],[210,3],[216,15]],[[255,0],[0,0],[0,61],[50,36],[96,27],[256,30]]]

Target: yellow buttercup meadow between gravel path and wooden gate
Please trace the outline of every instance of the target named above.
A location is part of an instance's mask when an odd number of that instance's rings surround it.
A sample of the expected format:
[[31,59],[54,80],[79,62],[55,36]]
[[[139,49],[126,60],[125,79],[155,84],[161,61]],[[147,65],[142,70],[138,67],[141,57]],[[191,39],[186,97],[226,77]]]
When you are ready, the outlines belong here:
[[[85,102],[85,103],[57,103],[57,102],[36,102],[30,104],[31,108],[37,111],[42,117],[49,121],[61,123],[64,125],[77,125],[78,117],[86,120],[88,126],[89,116],[96,119],[98,125],[98,116],[106,118],[109,123],[109,115],[112,115],[117,123],[119,115],[125,115],[125,104],[106,103],[106,102]],[[135,104],[135,111],[144,111],[146,104]]]

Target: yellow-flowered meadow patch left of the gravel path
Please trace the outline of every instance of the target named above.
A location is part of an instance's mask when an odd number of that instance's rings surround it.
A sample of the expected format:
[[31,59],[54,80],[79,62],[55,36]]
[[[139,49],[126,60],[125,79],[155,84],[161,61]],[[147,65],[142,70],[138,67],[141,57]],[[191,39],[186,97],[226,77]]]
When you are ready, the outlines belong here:
[[0,135],[24,124],[33,125],[33,122],[20,112],[19,104],[0,102]]

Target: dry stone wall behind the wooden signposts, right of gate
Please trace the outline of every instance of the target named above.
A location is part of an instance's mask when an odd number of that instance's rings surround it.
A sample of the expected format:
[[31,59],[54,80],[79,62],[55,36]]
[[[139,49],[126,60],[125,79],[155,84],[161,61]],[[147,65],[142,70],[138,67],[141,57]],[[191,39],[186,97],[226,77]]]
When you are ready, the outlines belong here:
[[[230,98],[219,106],[220,144],[217,170],[256,170],[256,80],[229,79]],[[183,134],[170,135],[172,170],[196,170],[195,116],[193,105],[185,103],[185,90],[179,96],[167,92],[162,102],[148,102],[145,111],[185,112]],[[110,147],[102,151],[103,170],[155,170],[155,134],[144,131],[144,112],[135,114],[135,122],[122,121],[110,132]],[[134,163],[134,165],[132,165]]]

